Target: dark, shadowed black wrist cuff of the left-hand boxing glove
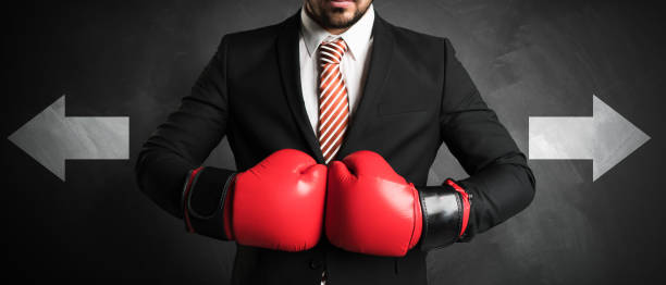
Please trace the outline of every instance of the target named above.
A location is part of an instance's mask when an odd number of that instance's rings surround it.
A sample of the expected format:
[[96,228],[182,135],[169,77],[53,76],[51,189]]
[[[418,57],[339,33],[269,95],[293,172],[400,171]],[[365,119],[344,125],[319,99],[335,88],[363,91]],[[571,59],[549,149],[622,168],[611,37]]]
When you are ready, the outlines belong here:
[[235,172],[198,168],[187,175],[182,196],[183,219],[189,233],[229,240],[224,206]]

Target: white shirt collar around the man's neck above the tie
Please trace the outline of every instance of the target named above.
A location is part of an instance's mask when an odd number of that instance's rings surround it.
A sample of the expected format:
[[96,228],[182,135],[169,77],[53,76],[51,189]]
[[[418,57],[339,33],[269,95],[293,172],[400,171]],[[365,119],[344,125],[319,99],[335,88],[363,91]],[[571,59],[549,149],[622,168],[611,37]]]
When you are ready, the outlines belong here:
[[361,18],[359,18],[358,22],[351,25],[351,27],[340,35],[332,35],[322,28],[317,22],[314,22],[314,20],[312,20],[305,12],[305,4],[300,9],[300,23],[301,34],[308,50],[308,55],[312,57],[312,53],[317,50],[319,44],[326,40],[329,37],[331,37],[331,39],[342,37],[347,44],[347,47],[349,47],[348,51],[351,52],[351,58],[356,60],[356,57],[360,54],[361,50],[365,50],[368,47],[370,37],[372,36],[374,8],[372,4],[370,4]]

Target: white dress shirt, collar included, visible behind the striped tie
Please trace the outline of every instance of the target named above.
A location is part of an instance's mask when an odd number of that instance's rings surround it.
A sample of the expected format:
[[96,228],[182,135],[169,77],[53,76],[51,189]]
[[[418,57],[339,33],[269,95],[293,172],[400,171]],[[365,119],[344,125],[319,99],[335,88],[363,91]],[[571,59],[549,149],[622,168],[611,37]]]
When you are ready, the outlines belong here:
[[317,136],[319,127],[319,70],[317,66],[319,44],[331,41],[337,37],[342,37],[347,44],[348,49],[342,58],[341,71],[347,86],[349,121],[351,121],[368,73],[369,51],[372,48],[374,9],[370,4],[361,18],[340,35],[332,35],[322,28],[305,12],[305,5],[300,9],[300,20],[303,23],[298,39],[300,86],[308,119]]

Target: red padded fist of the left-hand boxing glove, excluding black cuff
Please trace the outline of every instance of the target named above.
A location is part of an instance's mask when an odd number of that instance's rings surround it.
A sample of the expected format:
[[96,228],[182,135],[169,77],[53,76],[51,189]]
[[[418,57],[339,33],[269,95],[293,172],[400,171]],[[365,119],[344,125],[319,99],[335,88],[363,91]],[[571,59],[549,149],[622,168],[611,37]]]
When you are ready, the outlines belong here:
[[225,214],[230,239],[285,251],[306,250],[319,241],[326,166],[310,156],[295,149],[275,151],[236,174],[232,187],[232,209]]

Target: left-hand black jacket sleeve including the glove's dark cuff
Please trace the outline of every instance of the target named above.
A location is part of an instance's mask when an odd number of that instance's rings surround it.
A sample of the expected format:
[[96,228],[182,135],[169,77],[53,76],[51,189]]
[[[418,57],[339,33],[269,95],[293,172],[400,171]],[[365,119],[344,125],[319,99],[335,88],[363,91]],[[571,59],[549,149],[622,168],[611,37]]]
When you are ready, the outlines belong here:
[[226,131],[226,47],[223,37],[190,94],[151,134],[136,163],[143,193],[184,219],[189,232],[219,239],[229,239],[222,216],[234,171],[200,164]]

